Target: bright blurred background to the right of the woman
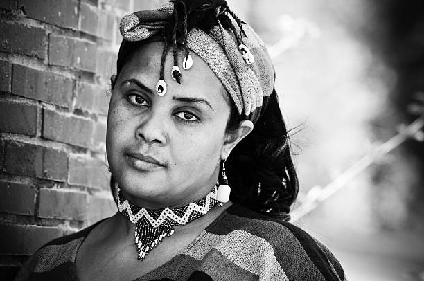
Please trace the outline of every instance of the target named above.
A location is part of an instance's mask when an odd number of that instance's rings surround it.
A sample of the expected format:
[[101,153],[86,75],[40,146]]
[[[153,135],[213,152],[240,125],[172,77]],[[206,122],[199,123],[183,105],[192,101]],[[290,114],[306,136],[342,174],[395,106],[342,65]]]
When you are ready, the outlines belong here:
[[424,280],[422,133],[344,173],[423,114],[424,2],[229,3],[270,46],[297,154],[294,208],[303,214],[348,178],[294,223],[335,252],[349,280]]

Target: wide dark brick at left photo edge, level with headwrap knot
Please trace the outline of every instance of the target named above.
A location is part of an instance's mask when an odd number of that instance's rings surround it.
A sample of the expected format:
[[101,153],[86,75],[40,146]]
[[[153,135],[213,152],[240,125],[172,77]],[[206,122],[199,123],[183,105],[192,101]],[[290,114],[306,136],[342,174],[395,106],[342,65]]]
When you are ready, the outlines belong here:
[[0,51],[44,59],[45,37],[42,28],[0,22]]

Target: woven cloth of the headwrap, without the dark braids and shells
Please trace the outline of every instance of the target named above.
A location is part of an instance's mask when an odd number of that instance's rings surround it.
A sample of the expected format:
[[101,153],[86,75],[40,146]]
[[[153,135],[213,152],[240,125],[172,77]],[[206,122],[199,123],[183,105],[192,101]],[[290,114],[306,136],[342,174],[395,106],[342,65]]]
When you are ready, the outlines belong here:
[[[227,5],[222,1],[223,5]],[[121,19],[120,30],[123,35],[120,53],[127,52],[134,42],[148,41],[161,33],[173,16],[174,4],[165,3],[157,10],[139,11]],[[221,8],[215,10],[215,18],[226,12]],[[190,15],[188,16],[190,17]],[[209,19],[206,19],[207,21]],[[231,20],[234,26],[236,22]],[[238,114],[256,123],[260,112],[266,108],[267,98],[274,89],[274,66],[267,53],[265,44],[248,24],[242,24],[245,35],[243,43],[254,55],[254,62],[247,64],[239,51],[236,36],[231,28],[223,26],[220,20],[211,24],[191,28],[186,37],[188,48],[199,55],[217,75],[235,103]],[[238,30],[240,32],[240,30]],[[133,47],[135,48],[135,47]],[[179,58],[179,66],[183,57]],[[195,65],[188,71],[195,70]],[[159,70],[158,70],[159,79]],[[184,71],[182,71],[184,83]]]

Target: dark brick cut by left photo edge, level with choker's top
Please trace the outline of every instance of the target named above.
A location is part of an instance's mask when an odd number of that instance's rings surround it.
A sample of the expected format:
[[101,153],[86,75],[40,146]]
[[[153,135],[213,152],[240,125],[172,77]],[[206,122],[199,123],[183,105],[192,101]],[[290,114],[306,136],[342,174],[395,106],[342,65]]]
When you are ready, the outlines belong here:
[[0,212],[34,215],[35,190],[22,183],[0,181]]

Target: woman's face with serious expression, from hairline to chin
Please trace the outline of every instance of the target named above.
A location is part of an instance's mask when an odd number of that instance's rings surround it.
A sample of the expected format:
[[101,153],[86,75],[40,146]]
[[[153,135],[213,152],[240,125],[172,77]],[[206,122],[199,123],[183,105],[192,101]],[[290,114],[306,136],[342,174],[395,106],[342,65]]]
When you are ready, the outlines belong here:
[[[157,95],[163,44],[135,51],[116,79],[107,119],[107,157],[125,197],[145,208],[182,206],[204,197],[218,179],[220,158],[233,145],[226,133],[230,105],[213,71],[193,52],[182,83],[171,78]],[[181,55],[179,60],[182,60]]]

